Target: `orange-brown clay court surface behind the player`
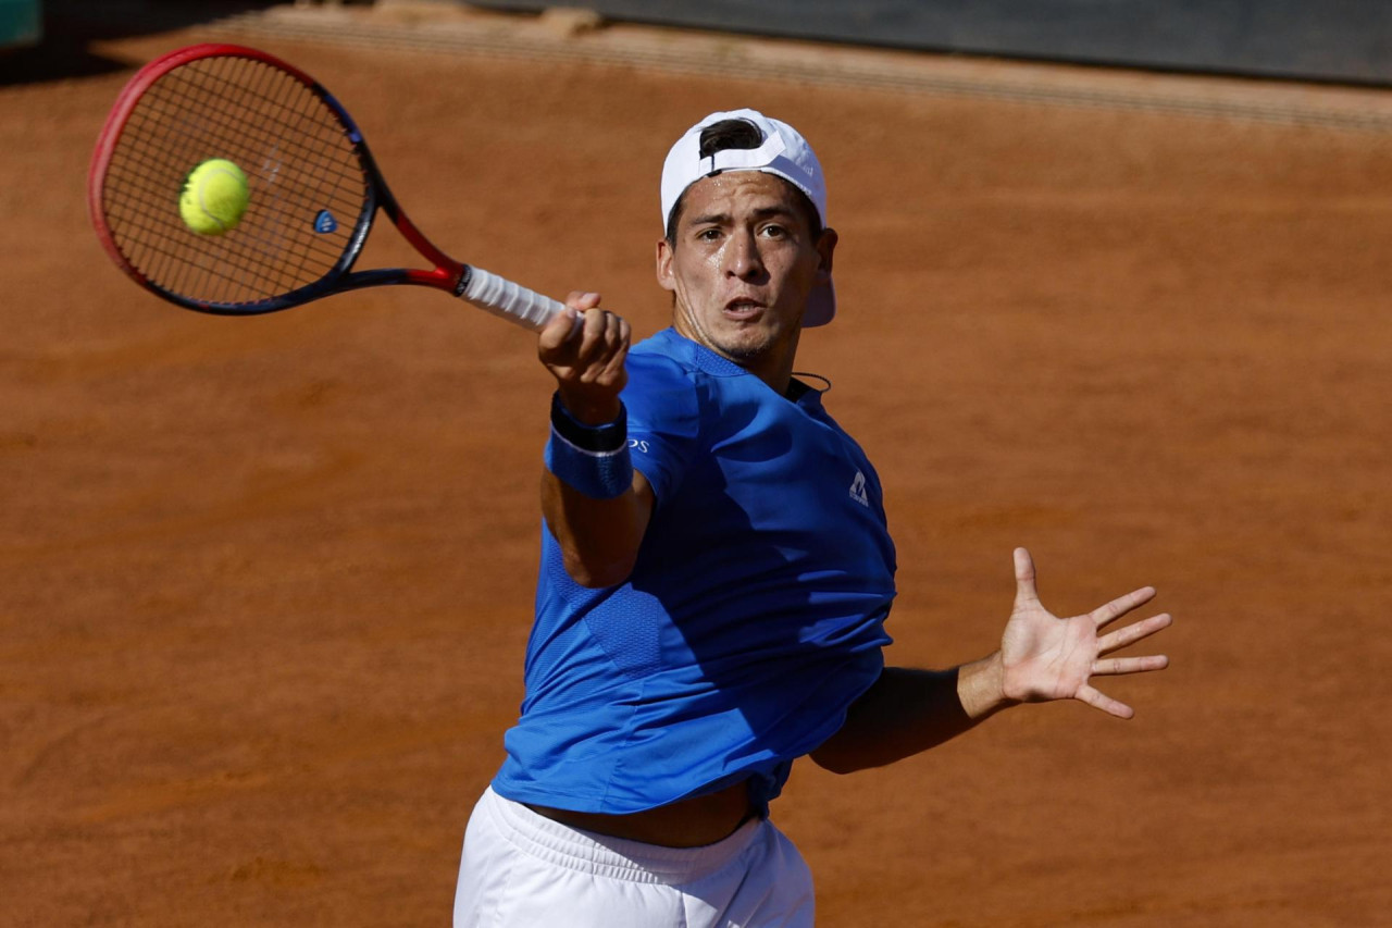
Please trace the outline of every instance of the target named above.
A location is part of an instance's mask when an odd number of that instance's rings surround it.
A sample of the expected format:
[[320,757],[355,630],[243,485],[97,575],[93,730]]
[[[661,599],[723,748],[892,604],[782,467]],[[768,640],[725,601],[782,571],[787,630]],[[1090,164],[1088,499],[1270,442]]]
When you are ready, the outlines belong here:
[[[207,38],[0,86],[0,920],[444,925],[522,695],[548,378],[433,291],[219,319],[122,277],[90,145],[135,65]],[[252,43],[448,251],[643,336],[667,145],[782,116],[831,178],[841,318],[799,368],[887,488],[889,659],[990,651],[1015,545],[1057,612],[1160,588],[1172,667],[1104,686],[1132,722],[799,765],[774,814],[820,924],[1392,924],[1392,134]]]

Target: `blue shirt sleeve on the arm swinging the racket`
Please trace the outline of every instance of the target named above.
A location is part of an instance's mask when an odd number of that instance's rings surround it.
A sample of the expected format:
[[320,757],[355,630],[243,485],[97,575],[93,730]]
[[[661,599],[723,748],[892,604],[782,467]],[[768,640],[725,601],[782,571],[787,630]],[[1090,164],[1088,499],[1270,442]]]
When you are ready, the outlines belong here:
[[697,386],[675,361],[658,354],[628,355],[628,447],[661,506],[681,482],[700,438]]

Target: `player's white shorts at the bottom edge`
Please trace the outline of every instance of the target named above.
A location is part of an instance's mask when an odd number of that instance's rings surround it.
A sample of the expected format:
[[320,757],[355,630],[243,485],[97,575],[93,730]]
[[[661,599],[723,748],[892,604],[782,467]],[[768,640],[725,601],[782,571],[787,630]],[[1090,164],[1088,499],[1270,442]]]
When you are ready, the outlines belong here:
[[490,787],[469,818],[454,928],[810,928],[812,872],[768,821],[714,844],[582,832]]

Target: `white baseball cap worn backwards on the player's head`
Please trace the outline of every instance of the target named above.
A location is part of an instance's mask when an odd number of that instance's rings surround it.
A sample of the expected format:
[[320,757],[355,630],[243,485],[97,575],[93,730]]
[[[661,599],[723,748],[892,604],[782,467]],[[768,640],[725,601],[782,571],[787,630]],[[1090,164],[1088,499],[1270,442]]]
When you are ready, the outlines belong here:
[[[761,134],[759,148],[727,148],[707,157],[700,156],[700,134],[724,120],[745,120]],[[827,181],[821,164],[798,130],[757,110],[711,113],[677,139],[663,163],[663,229],[671,222],[677,201],[686,188],[703,177],[724,171],[761,171],[784,178],[812,201],[817,217],[827,224]],[[828,280],[813,288],[803,312],[803,327],[824,326],[837,315],[837,291]]]

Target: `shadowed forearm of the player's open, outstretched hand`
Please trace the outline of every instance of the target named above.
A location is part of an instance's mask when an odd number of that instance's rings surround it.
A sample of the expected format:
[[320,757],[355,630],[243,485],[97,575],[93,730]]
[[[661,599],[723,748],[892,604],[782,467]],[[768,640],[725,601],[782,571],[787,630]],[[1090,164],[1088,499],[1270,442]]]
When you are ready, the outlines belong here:
[[999,654],[952,670],[885,667],[812,759],[837,773],[884,766],[937,747],[1008,705]]

